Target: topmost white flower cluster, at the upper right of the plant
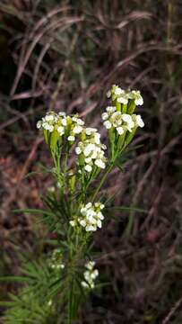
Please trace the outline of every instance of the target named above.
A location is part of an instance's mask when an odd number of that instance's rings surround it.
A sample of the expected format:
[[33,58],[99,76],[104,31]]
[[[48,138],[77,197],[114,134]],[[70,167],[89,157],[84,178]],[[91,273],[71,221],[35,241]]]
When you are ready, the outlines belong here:
[[112,100],[117,100],[117,103],[127,104],[129,100],[134,100],[135,105],[143,104],[143,97],[138,90],[124,90],[118,85],[112,85],[111,90],[108,91],[108,98],[112,97]]

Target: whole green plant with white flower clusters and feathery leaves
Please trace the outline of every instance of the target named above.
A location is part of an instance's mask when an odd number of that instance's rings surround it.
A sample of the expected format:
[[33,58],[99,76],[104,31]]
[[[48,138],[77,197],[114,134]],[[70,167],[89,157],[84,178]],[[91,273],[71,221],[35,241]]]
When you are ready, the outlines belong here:
[[27,276],[19,280],[28,284],[20,291],[18,302],[13,299],[10,303],[4,323],[15,323],[13,316],[17,323],[28,317],[32,323],[56,323],[57,314],[72,323],[85,296],[97,286],[99,271],[91,260],[91,240],[104,222],[105,197],[100,197],[100,189],[137,128],[144,125],[142,117],[134,113],[136,105],[143,104],[139,91],[113,85],[108,98],[111,103],[101,116],[108,130],[108,150],[100,132],[87,128],[77,114],[48,112],[37,123],[54,162],[48,173],[55,181],[55,187],[43,197],[45,210],[37,212],[56,239],[49,242],[54,248],[41,261],[24,262],[22,272]]

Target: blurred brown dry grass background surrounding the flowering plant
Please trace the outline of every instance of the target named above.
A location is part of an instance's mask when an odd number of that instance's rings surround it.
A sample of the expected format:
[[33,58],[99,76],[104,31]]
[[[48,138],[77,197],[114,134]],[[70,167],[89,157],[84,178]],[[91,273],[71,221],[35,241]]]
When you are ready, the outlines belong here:
[[[179,324],[181,0],[1,0],[0,275],[19,274],[17,247],[36,251],[42,244],[34,217],[13,213],[41,208],[40,193],[51,185],[42,174],[25,177],[51,163],[36,122],[53,109],[78,112],[100,128],[112,84],[141,91],[145,127],[124,172],[114,171],[105,188],[117,191],[115,205],[128,209],[112,211],[95,236],[100,279],[109,284],[91,295],[82,317],[85,323]],[[0,300],[16,288],[2,284]]]

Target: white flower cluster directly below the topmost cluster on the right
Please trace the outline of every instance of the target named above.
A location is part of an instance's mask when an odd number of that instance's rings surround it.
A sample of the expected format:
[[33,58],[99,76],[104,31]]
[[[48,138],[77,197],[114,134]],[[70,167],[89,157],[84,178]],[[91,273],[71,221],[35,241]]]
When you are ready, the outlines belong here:
[[106,108],[106,112],[102,113],[102,120],[108,130],[112,127],[116,128],[119,135],[124,134],[126,130],[131,132],[135,127],[144,126],[141,115],[117,112],[115,106]]

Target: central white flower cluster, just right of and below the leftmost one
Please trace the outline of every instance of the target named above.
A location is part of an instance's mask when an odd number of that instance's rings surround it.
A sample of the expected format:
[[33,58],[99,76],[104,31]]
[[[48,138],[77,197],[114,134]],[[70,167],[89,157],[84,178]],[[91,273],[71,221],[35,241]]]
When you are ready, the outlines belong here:
[[100,143],[100,133],[95,128],[86,128],[86,139],[80,141],[75,148],[77,155],[82,155],[84,170],[91,172],[93,166],[106,167],[106,157],[104,149],[107,147]]

